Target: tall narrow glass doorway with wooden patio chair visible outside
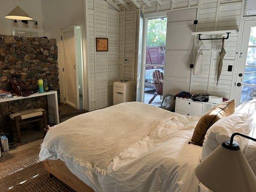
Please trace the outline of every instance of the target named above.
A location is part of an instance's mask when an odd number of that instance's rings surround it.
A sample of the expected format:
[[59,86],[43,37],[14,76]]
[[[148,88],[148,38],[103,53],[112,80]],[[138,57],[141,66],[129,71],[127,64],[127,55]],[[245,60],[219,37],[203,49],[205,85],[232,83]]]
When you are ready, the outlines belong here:
[[142,101],[158,107],[161,105],[163,93],[166,27],[166,15],[145,20]]

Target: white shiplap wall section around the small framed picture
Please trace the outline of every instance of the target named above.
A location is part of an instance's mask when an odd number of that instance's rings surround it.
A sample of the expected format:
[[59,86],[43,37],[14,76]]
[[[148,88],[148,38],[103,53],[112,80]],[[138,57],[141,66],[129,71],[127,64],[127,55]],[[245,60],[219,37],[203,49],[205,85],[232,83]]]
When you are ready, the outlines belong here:
[[[88,38],[89,110],[113,104],[113,82],[117,80],[119,12],[107,1],[88,0],[86,6]],[[96,37],[109,38],[109,51],[96,51]]]

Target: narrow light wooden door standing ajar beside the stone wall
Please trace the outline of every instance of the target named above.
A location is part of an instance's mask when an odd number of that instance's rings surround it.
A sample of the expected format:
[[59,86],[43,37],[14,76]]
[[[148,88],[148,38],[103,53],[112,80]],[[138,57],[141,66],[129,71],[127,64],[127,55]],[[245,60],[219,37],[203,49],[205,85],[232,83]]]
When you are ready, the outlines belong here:
[[74,27],[61,30],[63,42],[63,66],[65,102],[69,106],[79,109],[78,72],[75,55]]

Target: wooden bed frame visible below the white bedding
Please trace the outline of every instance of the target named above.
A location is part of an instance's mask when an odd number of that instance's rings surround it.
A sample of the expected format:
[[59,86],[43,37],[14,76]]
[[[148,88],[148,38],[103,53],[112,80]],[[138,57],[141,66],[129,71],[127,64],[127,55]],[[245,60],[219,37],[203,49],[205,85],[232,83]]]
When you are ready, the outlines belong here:
[[78,179],[65,165],[63,161],[45,160],[44,168],[48,171],[49,177],[56,177],[63,183],[68,185],[76,192],[95,192],[92,188],[86,185],[82,180]]

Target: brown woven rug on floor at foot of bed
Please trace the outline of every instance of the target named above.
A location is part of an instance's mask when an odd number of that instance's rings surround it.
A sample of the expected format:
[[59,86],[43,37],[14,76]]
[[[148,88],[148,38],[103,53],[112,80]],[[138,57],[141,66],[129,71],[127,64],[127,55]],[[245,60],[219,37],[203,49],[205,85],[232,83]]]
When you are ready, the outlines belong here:
[[49,178],[38,160],[39,145],[0,158],[0,192],[74,192]]

